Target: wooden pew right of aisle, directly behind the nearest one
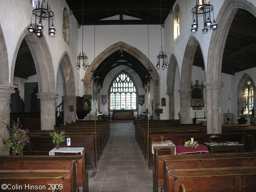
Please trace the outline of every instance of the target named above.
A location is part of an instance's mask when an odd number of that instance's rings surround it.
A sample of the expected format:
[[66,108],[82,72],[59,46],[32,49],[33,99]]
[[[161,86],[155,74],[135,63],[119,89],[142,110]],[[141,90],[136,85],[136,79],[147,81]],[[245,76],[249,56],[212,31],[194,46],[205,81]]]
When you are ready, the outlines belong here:
[[168,170],[225,166],[256,166],[256,153],[187,154],[157,156],[153,171],[153,191],[164,186]]

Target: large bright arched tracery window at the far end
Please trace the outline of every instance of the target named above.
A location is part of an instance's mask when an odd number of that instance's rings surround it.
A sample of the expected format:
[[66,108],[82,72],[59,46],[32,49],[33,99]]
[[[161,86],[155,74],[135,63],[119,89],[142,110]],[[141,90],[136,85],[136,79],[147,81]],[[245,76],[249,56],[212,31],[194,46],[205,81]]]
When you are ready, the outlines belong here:
[[137,94],[132,79],[124,72],[113,82],[110,89],[110,109],[136,109]]

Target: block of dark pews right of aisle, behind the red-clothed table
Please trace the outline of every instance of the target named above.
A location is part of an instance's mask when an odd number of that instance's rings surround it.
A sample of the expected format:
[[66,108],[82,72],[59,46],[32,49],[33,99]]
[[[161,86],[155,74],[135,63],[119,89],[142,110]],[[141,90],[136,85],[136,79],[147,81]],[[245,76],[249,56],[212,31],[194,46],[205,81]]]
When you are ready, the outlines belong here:
[[[221,141],[237,141],[244,144],[246,134],[243,132],[228,132],[216,134]],[[154,155],[151,149],[153,142],[171,140],[175,145],[183,145],[185,141],[194,138],[198,143],[211,142],[211,134],[207,134],[206,126],[202,124],[179,124],[177,120],[154,120],[154,121],[136,121],[135,138],[142,152],[145,161],[150,169],[154,167]]]

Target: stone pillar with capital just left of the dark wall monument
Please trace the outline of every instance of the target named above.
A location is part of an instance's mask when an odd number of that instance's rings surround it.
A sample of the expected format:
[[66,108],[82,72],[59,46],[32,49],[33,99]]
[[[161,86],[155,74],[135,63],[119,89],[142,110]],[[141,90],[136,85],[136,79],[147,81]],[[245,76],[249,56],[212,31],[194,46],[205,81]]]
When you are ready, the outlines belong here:
[[190,100],[191,100],[191,89],[178,90],[180,93],[180,123],[188,124],[191,123],[190,119]]

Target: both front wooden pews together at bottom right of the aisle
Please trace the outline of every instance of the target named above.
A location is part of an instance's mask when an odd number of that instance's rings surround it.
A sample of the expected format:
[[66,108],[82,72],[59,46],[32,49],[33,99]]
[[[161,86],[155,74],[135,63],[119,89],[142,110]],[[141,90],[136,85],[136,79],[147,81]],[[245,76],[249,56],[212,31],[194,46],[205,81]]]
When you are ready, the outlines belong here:
[[153,191],[255,191],[255,179],[255,152],[156,155]]

